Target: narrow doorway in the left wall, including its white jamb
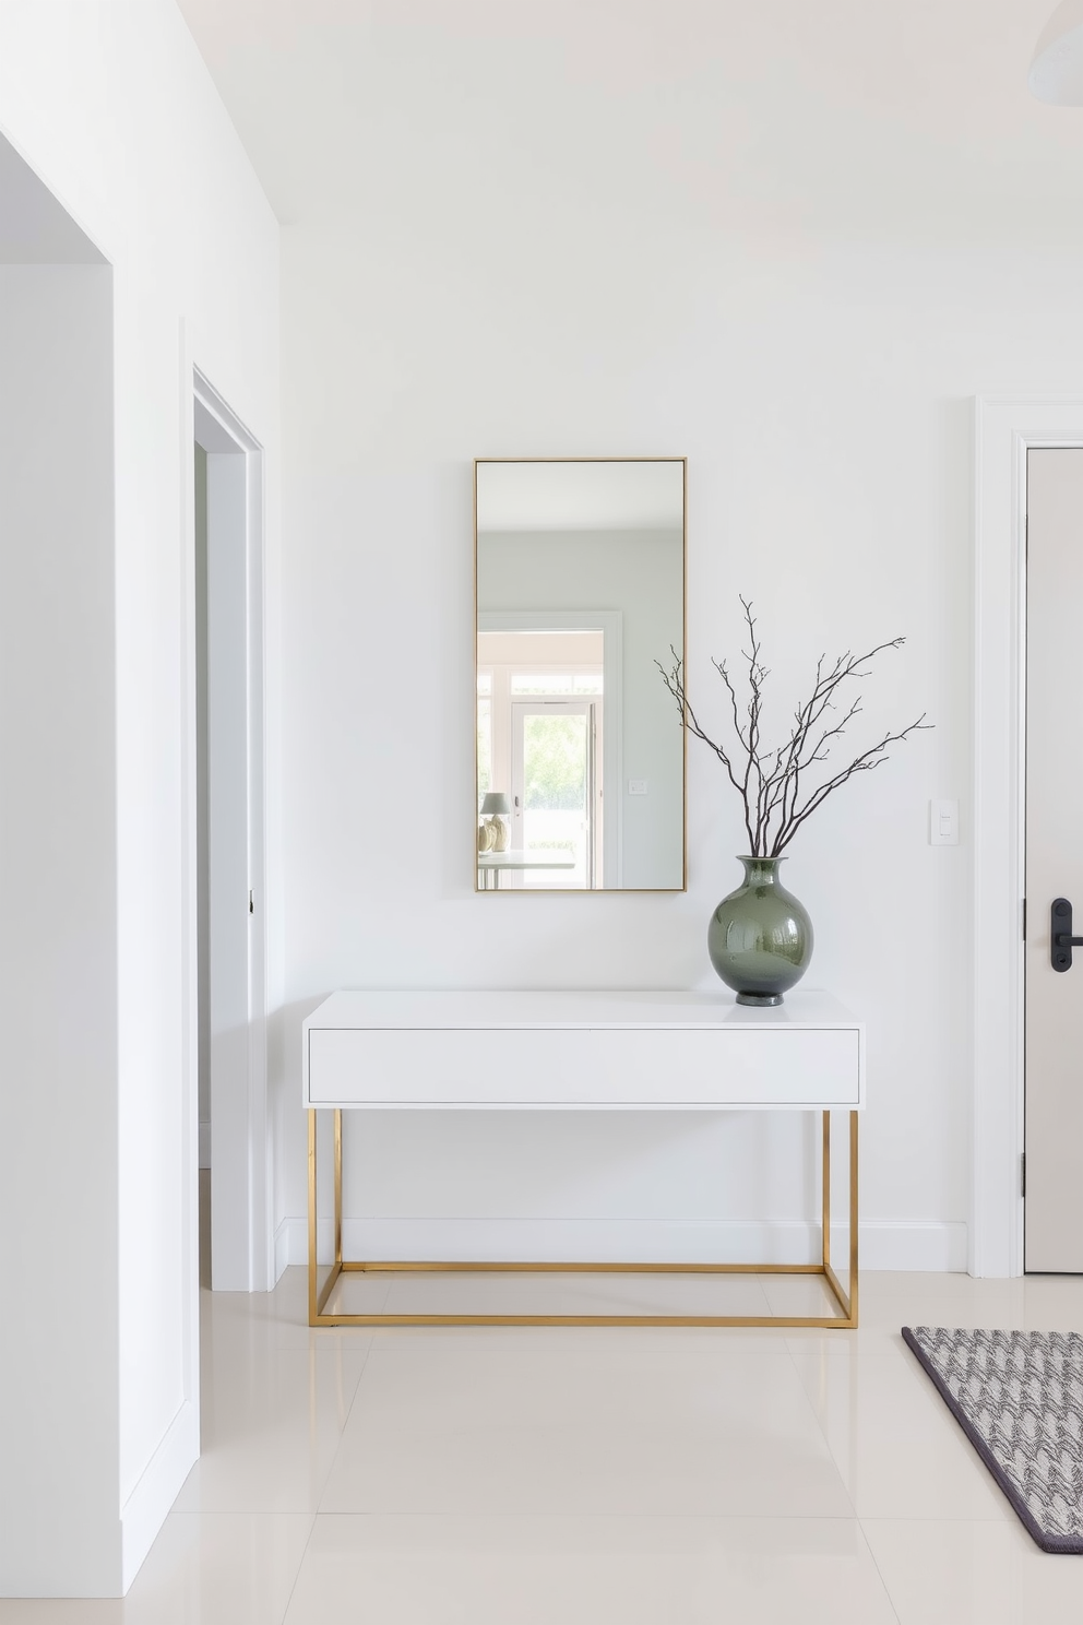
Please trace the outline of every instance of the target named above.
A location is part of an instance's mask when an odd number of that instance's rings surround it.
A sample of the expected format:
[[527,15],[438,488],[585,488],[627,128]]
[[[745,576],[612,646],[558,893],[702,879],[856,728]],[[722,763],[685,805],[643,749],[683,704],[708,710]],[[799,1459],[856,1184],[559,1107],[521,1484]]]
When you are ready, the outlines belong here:
[[[190,702],[201,1277],[273,1285],[266,1102],[263,453],[195,370]],[[205,1274],[206,1271],[206,1274]]]

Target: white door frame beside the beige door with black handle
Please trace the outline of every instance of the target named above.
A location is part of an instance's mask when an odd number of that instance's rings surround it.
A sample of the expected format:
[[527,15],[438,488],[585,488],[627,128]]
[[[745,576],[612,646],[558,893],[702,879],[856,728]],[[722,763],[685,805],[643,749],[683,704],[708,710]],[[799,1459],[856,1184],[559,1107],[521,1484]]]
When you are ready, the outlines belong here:
[[1083,400],[976,398],[973,1276],[1023,1274],[1026,453],[1031,448],[1083,448]]

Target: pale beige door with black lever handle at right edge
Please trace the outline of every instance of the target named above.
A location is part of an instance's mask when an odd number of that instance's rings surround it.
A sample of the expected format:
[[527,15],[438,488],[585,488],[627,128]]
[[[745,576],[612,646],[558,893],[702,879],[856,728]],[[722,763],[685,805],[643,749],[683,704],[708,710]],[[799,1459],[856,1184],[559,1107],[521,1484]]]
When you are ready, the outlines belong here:
[[[1083,450],[1026,458],[1026,1079],[1023,1261],[1083,1272]],[[1067,954],[1060,965],[1067,965]]]

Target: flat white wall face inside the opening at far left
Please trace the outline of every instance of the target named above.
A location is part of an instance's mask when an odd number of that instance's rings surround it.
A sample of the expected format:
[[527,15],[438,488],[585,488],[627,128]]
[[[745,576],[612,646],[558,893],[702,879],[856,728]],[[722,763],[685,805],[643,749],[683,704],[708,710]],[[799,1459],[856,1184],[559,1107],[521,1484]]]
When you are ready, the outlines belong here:
[[107,266],[0,266],[0,1591],[119,1549],[112,359]]

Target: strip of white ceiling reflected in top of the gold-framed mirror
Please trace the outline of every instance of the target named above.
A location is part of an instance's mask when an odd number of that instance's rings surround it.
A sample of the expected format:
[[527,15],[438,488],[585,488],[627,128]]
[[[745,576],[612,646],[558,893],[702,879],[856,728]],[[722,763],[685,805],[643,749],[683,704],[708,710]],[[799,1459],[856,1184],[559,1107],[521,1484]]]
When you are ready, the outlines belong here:
[[477,530],[680,530],[674,462],[479,463]]

